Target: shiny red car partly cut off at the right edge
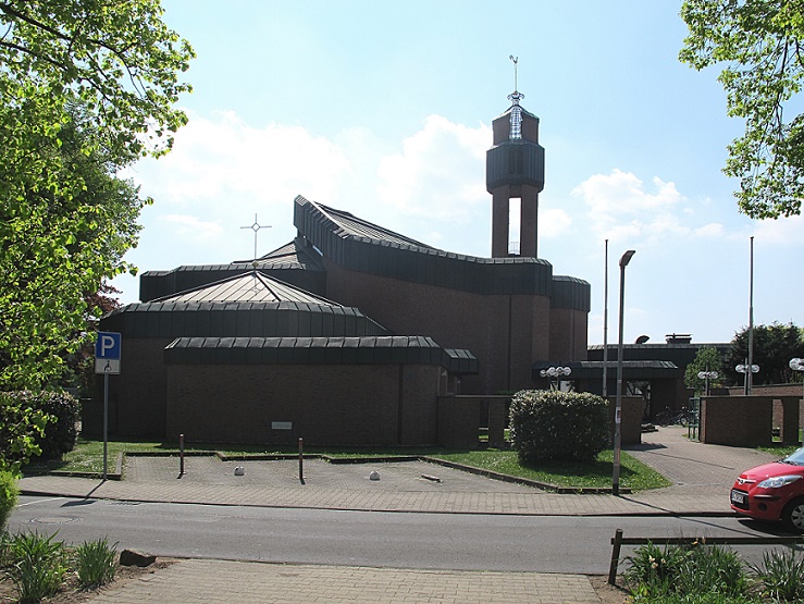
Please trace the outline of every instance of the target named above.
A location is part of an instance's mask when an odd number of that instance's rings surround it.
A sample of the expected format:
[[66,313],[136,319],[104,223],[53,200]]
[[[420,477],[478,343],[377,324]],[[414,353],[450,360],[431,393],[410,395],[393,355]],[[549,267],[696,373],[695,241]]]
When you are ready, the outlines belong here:
[[804,532],[804,448],[744,471],[731,488],[731,508],[757,520],[781,520]]

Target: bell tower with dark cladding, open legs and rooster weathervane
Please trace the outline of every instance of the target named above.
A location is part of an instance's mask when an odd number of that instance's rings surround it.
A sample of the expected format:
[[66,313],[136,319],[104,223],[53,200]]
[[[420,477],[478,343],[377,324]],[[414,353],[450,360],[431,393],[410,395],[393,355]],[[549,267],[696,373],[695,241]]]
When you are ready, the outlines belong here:
[[539,194],[544,188],[544,148],[539,145],[539,118],[525,111],[517,90],[517,61],[511,107],[492,122],[494,146],[486,151],[486,190],[492,194],[492,258],[507,258],[510,200],[520,199],[519,255],[536,257]]

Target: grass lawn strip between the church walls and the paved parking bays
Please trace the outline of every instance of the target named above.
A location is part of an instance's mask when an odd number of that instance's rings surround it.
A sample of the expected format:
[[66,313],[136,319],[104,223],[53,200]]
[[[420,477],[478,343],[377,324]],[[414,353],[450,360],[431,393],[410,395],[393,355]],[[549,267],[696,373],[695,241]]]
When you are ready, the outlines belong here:
[[[228,456],[248,456],[259,454],[298,454],[298,448],[286,447],[269,451],[264,447],[249,445],[211,445],[187,444],[186,452],[220,451]],[[119,452],[164,453],[177,455],[175,442],[164,443],[156,441],[109,441],[109,468],[114,471],[114,463]],[[388,457],[388,456],[429,456],[472,466],[484,470],[510,474],[540,482],[566,488],[610,488],[613,451],[604,451],[592,464],[551,463],[533,466],[521,466],[517,453],[504,449],[455,451],[437,447],[426,448],[332,448],[306,447],[306,454],[327,455],[331,457]],[[73,472],[95,472],[100,474],[103,469],[103,442],[79,440],[76,447],[64,456],[64,459],[48,463],[33,461],[28,468],[32,471],[62,470]],[[670,483],[659,473],[644,464],[641,464],[628,453],[622,452],[620,457],[620,486],[642,491],[658,489]]]

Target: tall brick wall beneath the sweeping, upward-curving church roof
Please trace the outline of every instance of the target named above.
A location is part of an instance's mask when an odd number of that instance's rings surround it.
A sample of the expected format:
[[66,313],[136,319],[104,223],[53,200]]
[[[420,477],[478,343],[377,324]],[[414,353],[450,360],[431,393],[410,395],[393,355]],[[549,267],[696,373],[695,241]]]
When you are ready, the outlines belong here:
[[[349,271],[326,258],[324,264],[329,298],[360,308],[395,333],[429,335],[447,348],[471,350],[480,374],[462,379],[463,393],[532,387],[533,360],[554,358],[546,296],[480,295]],[[585,350],[585,315],[583,323],[576,337]]]

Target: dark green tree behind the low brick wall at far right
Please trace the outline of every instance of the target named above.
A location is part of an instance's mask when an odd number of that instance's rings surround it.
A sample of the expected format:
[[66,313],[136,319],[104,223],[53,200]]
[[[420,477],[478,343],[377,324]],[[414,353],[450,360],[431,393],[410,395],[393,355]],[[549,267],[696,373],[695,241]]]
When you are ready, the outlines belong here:
[[[740,385],[744,377],[734,369],[745,363],[749,356],[749,329],[734,334],[723,359],[727,380]],[[754,384],[787,384],[795,381],[790,359],[804,356],[804,340],[801,330],[793,323],[754,325],[753,363],[759,372],[753,377]]]

